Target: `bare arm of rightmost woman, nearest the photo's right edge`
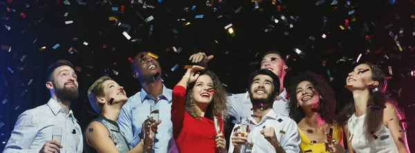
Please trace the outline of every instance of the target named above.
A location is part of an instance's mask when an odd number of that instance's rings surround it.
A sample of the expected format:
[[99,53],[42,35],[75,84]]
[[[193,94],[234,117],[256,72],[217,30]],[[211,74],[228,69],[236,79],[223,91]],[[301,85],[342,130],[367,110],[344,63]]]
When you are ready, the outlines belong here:
[[409,152],[409,146],[407,141],[404,127],[400,126],[399,121],[403,116],[400,116],[395,106],[389,102],[385,103],[386,108],[383,110],[383,122],[386,123],[387,128],[391,132],[392,138],[398,147],[399,152]]

